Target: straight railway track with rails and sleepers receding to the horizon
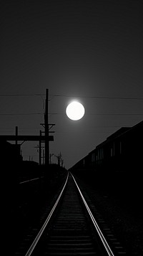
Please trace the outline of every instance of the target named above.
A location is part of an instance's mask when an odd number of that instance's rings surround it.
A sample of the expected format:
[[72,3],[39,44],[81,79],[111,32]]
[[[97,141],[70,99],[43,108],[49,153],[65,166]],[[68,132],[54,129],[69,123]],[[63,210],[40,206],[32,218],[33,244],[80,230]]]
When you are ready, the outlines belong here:
[[71,174],[25,254],[30,255],[115,255]]

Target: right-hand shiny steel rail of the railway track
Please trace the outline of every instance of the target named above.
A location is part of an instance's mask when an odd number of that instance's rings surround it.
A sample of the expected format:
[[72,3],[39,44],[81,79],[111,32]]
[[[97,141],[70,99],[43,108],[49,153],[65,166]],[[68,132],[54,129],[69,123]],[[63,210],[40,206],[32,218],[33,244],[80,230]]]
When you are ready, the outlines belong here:
[[[71,173],[70,173],[70,174],[71,174]],[[74,179],[74,176],[73,176],[72,174],[71,174],[71,176],[72,176],[72,178]],[[114,256],[114,253],[112,252],[111,248],[109,247],[109,245],[108,245],[108,243],[107,243],[107,240],[105,239],[104,235],[102,234],[101,229],[99,228],[99,225],[97,224],[96,220],[94,219],[94,216],[93,216],[91,210],[89,209],[88,204],[87,204],[87,202],[85,201],[84,196],[82,195],[82,192],[80,191],[79,186],[77,185],[77,182],[76,182],[75,179],[74,179],[74,182],[75,182],[75,184],[76,184],[76,186],[77,186],[77,189],[79,190],[79,194],[80,194],[81,197],[82,197],[82,200],[83,200],[83,202],[84,202],[84,205],[85,205],[85,207],[87,208],[87,211],[89,212],[89,216],[90,216],[91,219],[92,219],[92,222],[93,222],[93,224],[94,224],[94,227],[97,229],[97,233],[99,234],[99,237],[100,237],[100,239],[102,240],[102,243],[103,243],[103,245],[104,245],[105,250],[107,250],[107,253],[108,253],[109,256]]]

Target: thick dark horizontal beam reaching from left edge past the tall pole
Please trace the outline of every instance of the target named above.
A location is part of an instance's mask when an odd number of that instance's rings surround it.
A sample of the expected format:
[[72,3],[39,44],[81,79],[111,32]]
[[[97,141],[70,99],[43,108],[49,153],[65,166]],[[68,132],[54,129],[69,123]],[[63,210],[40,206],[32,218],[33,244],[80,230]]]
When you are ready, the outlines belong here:
[[0,135],[0,140],[5,141],[54,141],[54,136],[39,135]]

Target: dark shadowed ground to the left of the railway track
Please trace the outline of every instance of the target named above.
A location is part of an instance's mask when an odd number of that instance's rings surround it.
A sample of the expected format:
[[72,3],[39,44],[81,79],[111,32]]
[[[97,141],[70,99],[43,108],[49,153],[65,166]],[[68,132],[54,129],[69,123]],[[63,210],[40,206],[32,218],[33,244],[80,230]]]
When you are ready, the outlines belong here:
[[[30,170],[29,170],[30,172]],[[5,255],[16,255],[19,248],[24,246],[27,236],[36,237],[37,231],[42,226],[42,214],[51,209],[54,204],[54,196],[66,178],[66,170],[59,166],[52,166],[51,170],[41,171],[44,178],[24,184],[14,184],[9,181],[6,196],[4,197],[4,247]],[[34,176],[20,177],[21,180],[33,179]],[[46,217],[47,217],[46,214]],[[35,234],[34,234],[35,230]],[[31,237],[31,242],[34,238]],[[30,243],[30,242],[29,242]],[[23,245],[22,245],[23,244]],[[27,246],[27,245],[26,245]],[[26,246],[22,250],[22,255],[26,253]]]

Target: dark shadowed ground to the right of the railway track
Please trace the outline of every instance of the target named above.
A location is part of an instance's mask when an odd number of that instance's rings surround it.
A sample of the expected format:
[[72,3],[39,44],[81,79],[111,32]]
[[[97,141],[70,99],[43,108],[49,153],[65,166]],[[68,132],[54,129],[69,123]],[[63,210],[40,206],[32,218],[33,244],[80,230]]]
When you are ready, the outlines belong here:
[[[122,243],[127,255],[143,255],[143,211],[142,201],[130,198],[123,194],[114,193],[99,189],[94,182],[83,177],[77,178],[87,191],[89,199],[102,214],[109,227],[112,227],[114,234]],[[93,181],[93,180],[92,180]],[[122,186],[121,186],[122,189]],[[131,194],[131,197],[133,195]],[[134,194],[137,196],[137,194]],[[140,199],[140,196],[139,196]],[[136,202],[136,203],[134,203]]]

